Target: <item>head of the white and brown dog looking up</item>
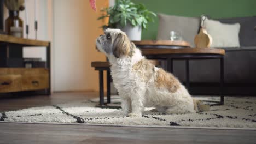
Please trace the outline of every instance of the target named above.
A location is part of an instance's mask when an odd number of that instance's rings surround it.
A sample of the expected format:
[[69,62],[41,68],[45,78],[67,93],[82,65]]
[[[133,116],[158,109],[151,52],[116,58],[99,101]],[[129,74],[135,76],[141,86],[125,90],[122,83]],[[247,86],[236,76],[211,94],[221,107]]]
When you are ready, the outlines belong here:
[[135,45],[120,29],[106,29],[104,35],[96,40],[96,47],[106,56],[113,55],[116,58],[131,56]]

